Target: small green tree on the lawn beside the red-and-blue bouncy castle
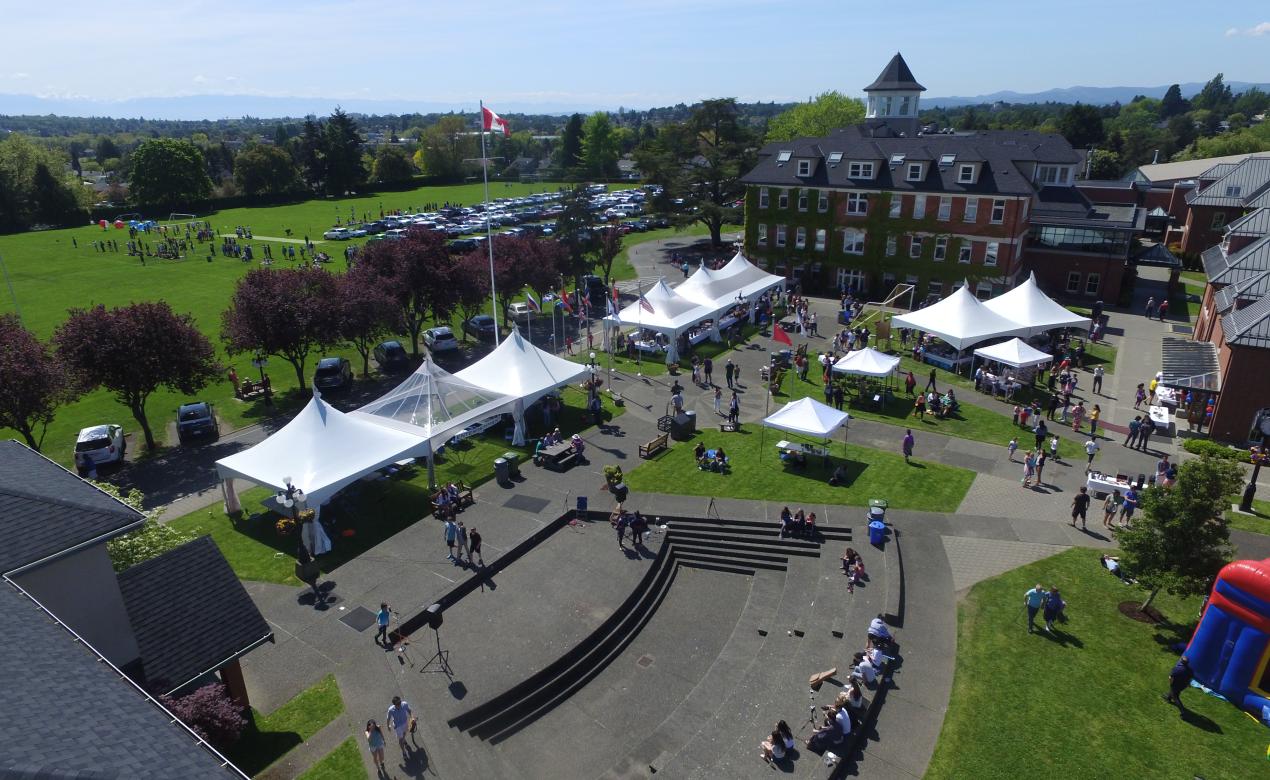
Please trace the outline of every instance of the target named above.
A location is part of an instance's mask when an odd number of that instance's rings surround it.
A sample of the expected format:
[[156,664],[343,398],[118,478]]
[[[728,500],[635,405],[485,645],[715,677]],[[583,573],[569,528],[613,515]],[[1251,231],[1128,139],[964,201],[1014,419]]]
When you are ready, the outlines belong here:
[[1121,565],[1151,591],[1143,610],[1162,589],[1179,596],[1208,592],[1231,559],[1224,511],[1242,476],[1227,459],[1189,460],[1177,469],[1172,488],[1147,488],[1133,523],[1113,531]]

